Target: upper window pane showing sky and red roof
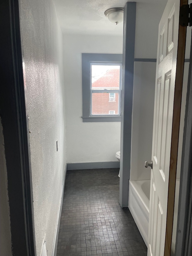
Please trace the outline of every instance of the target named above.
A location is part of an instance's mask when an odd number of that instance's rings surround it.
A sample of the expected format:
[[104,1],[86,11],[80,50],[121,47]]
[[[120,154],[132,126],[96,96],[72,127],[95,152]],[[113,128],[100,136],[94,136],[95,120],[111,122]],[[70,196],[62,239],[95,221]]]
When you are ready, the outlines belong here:
[[93,90],[119,90],[120,65],[91,65]]

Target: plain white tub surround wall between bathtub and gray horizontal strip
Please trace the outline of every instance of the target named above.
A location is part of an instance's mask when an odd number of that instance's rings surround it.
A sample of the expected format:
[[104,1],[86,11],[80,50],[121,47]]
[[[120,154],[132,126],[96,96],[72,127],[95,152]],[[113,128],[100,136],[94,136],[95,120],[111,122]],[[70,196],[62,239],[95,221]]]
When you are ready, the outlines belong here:
[[131,136],[131,180],[150,179],[156,62],[135,62]]

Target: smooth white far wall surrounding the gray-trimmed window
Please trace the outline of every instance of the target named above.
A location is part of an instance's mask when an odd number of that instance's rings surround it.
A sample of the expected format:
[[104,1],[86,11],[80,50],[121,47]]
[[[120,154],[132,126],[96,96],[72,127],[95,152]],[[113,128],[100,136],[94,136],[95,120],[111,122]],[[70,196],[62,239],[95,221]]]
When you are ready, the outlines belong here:
[[67,163],[117,161],[120,122],[82,122],[81,53],[122,53],[122,39],[64,35]]

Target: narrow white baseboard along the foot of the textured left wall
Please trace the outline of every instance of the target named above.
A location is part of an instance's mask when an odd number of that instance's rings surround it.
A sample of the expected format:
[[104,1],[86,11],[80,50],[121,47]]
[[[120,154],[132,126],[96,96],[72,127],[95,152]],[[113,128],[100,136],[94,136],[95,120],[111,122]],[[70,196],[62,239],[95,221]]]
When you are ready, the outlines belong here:
[[63,175],[63,182],[62,182],[62,187],[61,187],[61,196],[60,196],[58,212],[57,212],[57,221],[56,221],[56,225],[55,225],[55,235],[54,235],[54,240],[53,240],[52,256],[56,256],[56,254],[57,254],[59,224],[60,224],[60,219],[61,219],[61,209],[62,209],[62,203],[63,203],[63,194],[64,194],[66,173],[67,173],[67,164],[65,165],[65,170],[64,170],[64,175]]

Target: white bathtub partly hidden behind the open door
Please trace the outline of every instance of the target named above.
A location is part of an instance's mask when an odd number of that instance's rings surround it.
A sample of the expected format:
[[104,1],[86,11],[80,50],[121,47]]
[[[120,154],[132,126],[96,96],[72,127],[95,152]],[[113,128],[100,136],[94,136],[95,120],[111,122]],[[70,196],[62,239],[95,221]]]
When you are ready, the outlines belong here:
[[129,210],[147,246],[150,180],[129,181]]

